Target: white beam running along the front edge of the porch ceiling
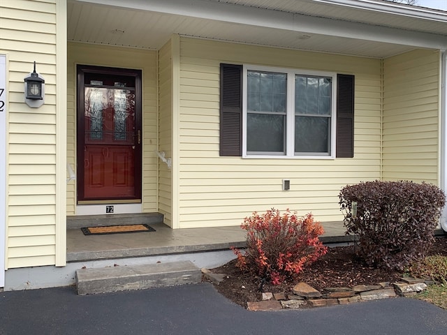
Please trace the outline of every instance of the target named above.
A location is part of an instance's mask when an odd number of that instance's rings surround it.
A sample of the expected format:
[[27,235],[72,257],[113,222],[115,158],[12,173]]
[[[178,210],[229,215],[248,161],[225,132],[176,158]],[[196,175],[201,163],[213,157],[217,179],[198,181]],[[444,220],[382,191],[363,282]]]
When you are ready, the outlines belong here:
[[[182,15],[200,19],[247,24],[254,27],[268,27],[297,31],[300,34],[321,34],[325,36],[340,36],[356,38],[396,45],[422,47],[430,49],[446,49],[445,35],[430,34],[422,31],[409,31],[373,24],[363,24],[344,20],[334,20],[326,17],[315,17],[298,13],[289,13],[265,8],[240,6],[209,0],[77,0],[104,6],[114,6],[133,10],[147,10],[167,15]],[[332,0],[314,0],[332,1]],[[344,0],[345,2],[353,0]],[[356,2],[360,2],[356,0]],[[382,5],[384,6],[384,5]],[[372,10],[365,8],[365,10]],[[178,32],[181,33],[180,31]]]

